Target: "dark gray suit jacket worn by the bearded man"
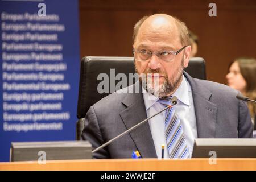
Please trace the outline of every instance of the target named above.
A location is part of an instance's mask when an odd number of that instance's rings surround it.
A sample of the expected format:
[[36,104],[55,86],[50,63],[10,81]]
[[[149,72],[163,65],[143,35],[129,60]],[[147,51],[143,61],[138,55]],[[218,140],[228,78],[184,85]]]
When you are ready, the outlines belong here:
[[[184,76],[192,89],[199,138],[252,137],[247,104],[237,100],[236,90],[185,72]],[[134,89],[134,85],[125,89]],[[113,93],[90,107],[82,138],[97,148],[146,118],[142,93]],[[94,153],[93,158],[131,158],[136,150],[142,158],[157,157],[148,122]]]

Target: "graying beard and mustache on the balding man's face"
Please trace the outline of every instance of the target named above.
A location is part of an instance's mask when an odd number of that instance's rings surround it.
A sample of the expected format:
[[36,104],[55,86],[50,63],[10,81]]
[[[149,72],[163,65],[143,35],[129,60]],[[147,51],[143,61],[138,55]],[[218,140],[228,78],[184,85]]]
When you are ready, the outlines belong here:
[[[183,61],[181,61],[183,62]],[[180,68],[175,72],[172,81],[168,81],[167,75],[164,76],[164,82],[162,85],[154,85],[152,84],[151,78],[146,78],[146,81],[142,81],[139,79],[142,88],[145,89],[149,94],[152,94],[156,97],[166,97],[173,93],[180,85],[183,76],[183,64],[181,64]],[[135,65],[135,71],[137,72],[137,68]],[[138,73],[138,72],[137,72]],[[156,70],[150,70],[148,73],[159,73]]]

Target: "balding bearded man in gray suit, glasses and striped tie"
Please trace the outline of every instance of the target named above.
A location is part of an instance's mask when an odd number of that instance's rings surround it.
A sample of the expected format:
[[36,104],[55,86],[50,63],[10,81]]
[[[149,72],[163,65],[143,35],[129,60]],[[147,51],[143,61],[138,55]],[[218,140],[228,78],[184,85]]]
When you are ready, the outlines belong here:
[[[188,66],[191,46],[187,27],[166,14],[145,16],[134,27],[135,71],[146,74],[138,81],[110,94],[90,107],[85,117],[84,140],[93,148],[130,129],[170,105],[129,134],[93,153],[93,158],[191,158],[195,138],[251,138],[252,123],[237,91],[215,82],[192,78]],[[154,86],[155,82],[159,86]],[[139,87],[139,93],[134,93]]]

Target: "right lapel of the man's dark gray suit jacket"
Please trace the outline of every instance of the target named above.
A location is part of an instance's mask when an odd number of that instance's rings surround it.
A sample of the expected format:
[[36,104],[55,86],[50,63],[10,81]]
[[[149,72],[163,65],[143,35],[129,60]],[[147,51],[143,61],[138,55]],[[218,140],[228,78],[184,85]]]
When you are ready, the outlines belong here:
[[213,138],[216,130],[217,105],[210,102],[212,92],[205,88],[184,72],[193,95],[193,102],[196,115],[197,137]]

